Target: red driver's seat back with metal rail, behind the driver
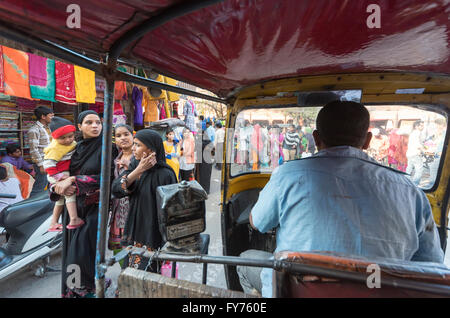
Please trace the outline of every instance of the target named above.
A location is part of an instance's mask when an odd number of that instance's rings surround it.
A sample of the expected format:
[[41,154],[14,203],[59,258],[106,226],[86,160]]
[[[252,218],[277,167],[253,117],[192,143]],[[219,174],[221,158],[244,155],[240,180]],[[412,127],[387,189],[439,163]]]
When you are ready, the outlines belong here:
[[[345,273],[360,273],[367,278],[373,273],[368,269],[376,264],[380,269],[380,288],[369,288],[366,281],[356,282],[345,278],[274,271],[273,296],[288,298],[311,297],[449,297],[450,268],[440,263],[402,261],[388,258],[365,258],[332,252],[289,252],[275,254],[276,260],[317,266]],[[405,280],[413,284],[432,284],[439,291],[427,292],[406,287],[383,285],[383,280]],[[432,289],[432,288],[431,288]]]

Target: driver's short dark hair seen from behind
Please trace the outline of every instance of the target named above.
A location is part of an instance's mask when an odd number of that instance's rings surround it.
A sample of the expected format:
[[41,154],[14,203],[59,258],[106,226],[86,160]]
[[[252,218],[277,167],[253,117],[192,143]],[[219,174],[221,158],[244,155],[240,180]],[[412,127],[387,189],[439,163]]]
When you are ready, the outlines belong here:
[[370,114],[366,107],[350,101],[333,101],[326,104],[316,119],[320,139],[327,147],[362,147],[369,124]]

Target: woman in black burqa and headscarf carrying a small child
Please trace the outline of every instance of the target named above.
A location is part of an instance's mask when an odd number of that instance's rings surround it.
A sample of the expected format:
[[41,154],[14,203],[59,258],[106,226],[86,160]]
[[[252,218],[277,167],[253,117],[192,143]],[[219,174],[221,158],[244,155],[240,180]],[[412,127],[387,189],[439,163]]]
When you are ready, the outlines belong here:
[[[78,128],[82,139],[77,142],[71,158],[70,177],[58,182],[54,191],[63,194],[74,191],[77,195],[78,215],[86,224],[70,230],[63,264],[63,297],[93,297],[95,295],[95,257],[97,246],[97,224],[99,212],[100,170],[102,157],[102,122],[99,115],[87,110],[78,116]],[[117,156],[113,147],[112,158]],[[114,169],[113,162],[111,169]],[[114,174],[111,172],[111,176]],[[79,266],[80,281],[69,275]],[[69,267],[70,266],[70,267]],[[75,270],[75,271],[74,271]]]

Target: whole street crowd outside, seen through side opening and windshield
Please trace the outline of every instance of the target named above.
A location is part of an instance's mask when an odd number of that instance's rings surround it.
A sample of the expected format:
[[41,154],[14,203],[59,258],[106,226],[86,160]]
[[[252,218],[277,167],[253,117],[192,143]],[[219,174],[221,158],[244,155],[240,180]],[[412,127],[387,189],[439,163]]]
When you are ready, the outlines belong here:
[[[49,231],[62,231],[60,215],[65,205],[69,214],[70,233],[66,264],[77,264],[81,269],[81,285],[67,286],[66,297],[87,297],[95,293],[95,253],[100,192],[102,120],[93,110],[83,111],[77,126],[55,117],[51,109],[35,109],[36,124],[28,132],[32,163],[26,162],[20,147],[9,145],[7,156],[0,165],[0,187],[18,194],[13,201],[2,201],[2,206],[49,190],[55,201]],[[411,134],[398,130],[372,130],[368,152],[382,164],[401,171],[412,172],[418,184],[423,168],[423,156],[433,156],[430,166],[439,163],[445,123],[428,140],[423,139],[423,122],[413,125]],[[77,129],[78,128],[78,129]],[[313,137],[314,126],[267,126],[244,121],[234,131],[232,163],[246,170],[275,169],[285,161],[311,157],[318,150]],[[77,131],[78,130],[78,131]],[[202,132],[202,133],[199,133]],[[78,134],[78,137],[76,137]],[[126,124],[114,127],[115,146],[111,162],[111,192],[113,195],[109,222],[108,247],[115,253],[124,246],[134,245],[156,250],[162,247],[158,229],[156,188],[161,185],[197,180],[210,192],[211,170],[223,164],[225,128],[221,120],[196,120],[196,129],[176,127],[168,130],[165,140],[155,131],[142,129],[137,133]],[[436,144],[434,152],[431,143]],[[211,154],[211,158],[205,154]],[[200,160],[199,160],[200,158]],[[29,173],[34,184],[28,193],[21,182],[15,182],[14,171]],[[430,167],[430,174],[435,177]],[[31,178],[31,177],[30,177]],[[434,179],[433,179],[434,180]],[[23,180],[22,180],[23,181]],[[28,180],[29,181],[29,180]],[[24,182],[28,182],[24,181]],[[18,188],[19,187],[19,188]],[[14,189],[13,189],[14,188]],[[20,195],[19,195],[20,194]],[[1,202],[0,202],[1,203]],[[148,264],[140,256],[130,256],[123,266],[158,271],[159,264]],[[66,272],[63,270],[63,275]]]

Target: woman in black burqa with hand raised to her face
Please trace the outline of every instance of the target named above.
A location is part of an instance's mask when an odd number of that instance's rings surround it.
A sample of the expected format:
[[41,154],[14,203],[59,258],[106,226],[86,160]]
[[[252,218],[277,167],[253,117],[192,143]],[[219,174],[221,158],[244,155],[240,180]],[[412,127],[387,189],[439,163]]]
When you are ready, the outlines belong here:
[[[150,129],[136,133],[130,166],[116,178],[112,193],[116,198],[129,196],[130,210],[124,228],[124,240],[128,244],[157,250],[163,240],[159,231],[156,188],[177,183],[175,172],[166,163],[163,141]],[[157,271],[155,264],[148,267],[143,258],[130,257],[129,266]]]

